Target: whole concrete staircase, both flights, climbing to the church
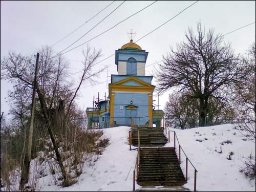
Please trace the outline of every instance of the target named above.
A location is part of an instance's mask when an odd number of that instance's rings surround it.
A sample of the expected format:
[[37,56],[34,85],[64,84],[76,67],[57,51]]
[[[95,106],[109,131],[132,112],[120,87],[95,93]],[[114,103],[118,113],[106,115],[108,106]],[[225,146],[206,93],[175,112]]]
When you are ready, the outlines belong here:
[[[181,186],[186,183],[174,147],[167,143],[162,127],[133,127],[132,144],[138,146],[140,163],[138,184],[141,186]],[[185,189],[181,187],[180,189]]]

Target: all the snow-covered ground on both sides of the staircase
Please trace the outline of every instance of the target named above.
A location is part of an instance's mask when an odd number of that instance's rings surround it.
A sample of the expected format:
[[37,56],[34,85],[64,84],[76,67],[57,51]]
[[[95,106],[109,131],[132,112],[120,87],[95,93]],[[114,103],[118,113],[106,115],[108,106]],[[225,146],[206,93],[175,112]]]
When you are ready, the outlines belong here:
[[[104,130],[104,134],[110,136],[110,145],[93,167],[84,166],[76,184],[65,188],[56,186],[49,174],[39,179],[41,191],[132,191],[137,151],[130,151],[129,129],[130,127],[120,126]],[[255,145],[248,139],[245,140],[246,137],[239,130],[233,129],[233,125],[174,131],[188,158],[198,170],[198,191],[255,191],[255,179],[249,181],[239,172],[245,157],[249,157],[251,153],[255,157]],[[170,137],[171,142],[166,147],[173,146],[172,133]],[[227,140],[232,143],[224,143]],[[222,142],[224,145],[221,145]],[[218,153],[220,146],[221,154]],[[232,160],[227,159],[230,152],[233,152]],[[181,155],[181,160],[185,173],[184,155]],[[188,182],[184,187],[194,190],[194,169],[190,164]],[[139,188],[136,184],[136,189]]]

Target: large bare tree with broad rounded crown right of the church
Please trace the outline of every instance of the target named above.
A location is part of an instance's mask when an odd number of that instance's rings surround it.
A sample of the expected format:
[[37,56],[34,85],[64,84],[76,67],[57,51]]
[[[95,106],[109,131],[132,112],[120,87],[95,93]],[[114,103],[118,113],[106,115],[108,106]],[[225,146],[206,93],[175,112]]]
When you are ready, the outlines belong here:
[[205,125],[209,98],[218,101],[226,99],[223,90],[240,81],[239,62],[230,45],[223,43],[223,36],[214,35],[214,30],[205,33],[201,24],[197,26],[197,35],[192,29],[185,33],[186,41],[177,45],[177,51],[171,48],[160,64],[156,78],[158,91],[169,89],[190,90],[199,100],[200,125]]

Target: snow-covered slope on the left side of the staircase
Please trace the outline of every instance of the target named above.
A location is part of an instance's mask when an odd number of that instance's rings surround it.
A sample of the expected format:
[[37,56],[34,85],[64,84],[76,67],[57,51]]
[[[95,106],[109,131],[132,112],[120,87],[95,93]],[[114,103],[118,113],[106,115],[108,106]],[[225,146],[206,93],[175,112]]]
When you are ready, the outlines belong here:
[[[110,137],[110,145],[93,167],[84,166],[76,184],[65,188],[56,186],[53,182],[49,183],[48,175],[39,179],[41,191],[132,191],[137,151],[130,151],[129,130],[127,126],[105,129],[104,134]],[[136,184],[136,188],[139,187]]]

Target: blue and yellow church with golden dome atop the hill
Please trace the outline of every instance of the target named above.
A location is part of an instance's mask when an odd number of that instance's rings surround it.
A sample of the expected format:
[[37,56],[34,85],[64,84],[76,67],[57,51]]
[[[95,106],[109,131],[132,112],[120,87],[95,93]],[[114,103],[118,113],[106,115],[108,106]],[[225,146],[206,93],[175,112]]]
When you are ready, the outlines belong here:
[[109,99],[87,108],[88,128],[120,125],[161,126],[162,110],[153,109],[153,76],[145,76],[148,52],[133,40],[116,50],[117,75],[111,75]]

